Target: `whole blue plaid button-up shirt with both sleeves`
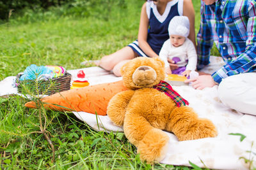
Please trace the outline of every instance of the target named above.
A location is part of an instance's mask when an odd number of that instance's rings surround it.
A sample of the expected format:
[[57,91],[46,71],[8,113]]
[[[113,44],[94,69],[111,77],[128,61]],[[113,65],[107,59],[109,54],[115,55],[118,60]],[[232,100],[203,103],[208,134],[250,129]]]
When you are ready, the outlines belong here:
[[256,1],[216,0],[205,5],[201,1],[201,23],[197,35],[198,69],[209,64],[213,41],[225,65],[212,74],[220,83],[234,74],[256,69]]

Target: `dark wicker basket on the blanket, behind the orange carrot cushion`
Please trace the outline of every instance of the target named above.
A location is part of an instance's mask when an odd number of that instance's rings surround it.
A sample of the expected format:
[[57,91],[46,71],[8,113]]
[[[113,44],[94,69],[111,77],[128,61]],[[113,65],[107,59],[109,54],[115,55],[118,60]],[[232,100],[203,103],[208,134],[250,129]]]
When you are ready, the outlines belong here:
[[20,81],[19,78],[21,75],[22,74],[17,74],[16,84],[17,84],[18,92],[22,94],[28,94],[28,93],[37,94],[37,91],[38,91],[39,94],[51,95],[57,92],[63,92],[70,89],[71,74],[67,72],[65,73],[65,75],[59,76],[57,78],[38,81],[38,85],[37,85],[38,89],[36,89],[35,80]]

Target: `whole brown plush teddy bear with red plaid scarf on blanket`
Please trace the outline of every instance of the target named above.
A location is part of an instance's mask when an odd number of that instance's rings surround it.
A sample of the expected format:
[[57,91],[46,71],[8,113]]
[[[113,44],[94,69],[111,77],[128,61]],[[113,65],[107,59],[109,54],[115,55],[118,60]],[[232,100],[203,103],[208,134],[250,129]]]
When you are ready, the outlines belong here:
[[159,162],[166,155],[168,135],[180,141],[214,137],[216,127],[198,118],[183,99],[164,80],[164,62],[137,57],[121,70],[128,89],[116,94],[108,104],[107,115],[114,124],[124,126],[125,136],[137,147],[141,160]]

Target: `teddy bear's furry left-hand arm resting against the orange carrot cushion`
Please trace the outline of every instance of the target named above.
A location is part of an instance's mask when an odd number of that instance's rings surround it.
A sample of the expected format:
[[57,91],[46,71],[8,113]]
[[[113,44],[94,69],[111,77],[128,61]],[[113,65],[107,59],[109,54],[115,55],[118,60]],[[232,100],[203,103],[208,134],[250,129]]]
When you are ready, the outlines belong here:
[[129,104],[134,90],[126,90],[116,94],[108,103],[107,115],[111,121],[119,126],[124,124],[125,108]]

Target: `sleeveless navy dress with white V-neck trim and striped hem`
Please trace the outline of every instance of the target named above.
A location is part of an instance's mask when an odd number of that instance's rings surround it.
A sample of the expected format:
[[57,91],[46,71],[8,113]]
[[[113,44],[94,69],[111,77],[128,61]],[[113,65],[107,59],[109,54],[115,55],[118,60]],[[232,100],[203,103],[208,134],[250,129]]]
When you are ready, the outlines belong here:
[[[159,55],[164,41],[170,38],[168,34],[168,25],[170,20],[177,15],[183,15],[183,1],[173,0],[166,5],[163,15],[157,11],[156,5],[153,1],[147,2],[147,15],[149,20],[148,45]],[[138,40],[130,43],[128,46],[138,53],[139,56],[147,57],[147,54],[141,50]]]

